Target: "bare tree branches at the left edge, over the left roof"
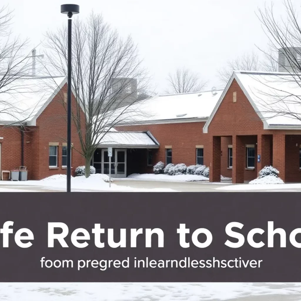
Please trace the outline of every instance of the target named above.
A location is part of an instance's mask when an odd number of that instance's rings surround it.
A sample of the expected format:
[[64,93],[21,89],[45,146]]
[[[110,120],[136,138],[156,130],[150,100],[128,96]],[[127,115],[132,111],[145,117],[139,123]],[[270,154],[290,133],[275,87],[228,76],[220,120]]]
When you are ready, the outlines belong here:
[[12,18],[8,7],[0,8],[0,119],[8,121],[7,126],[24,123],[30,115],[29,108],[24,114],[14,101],[17,93],[24,92],[23,79],[30,74],[32,56],[26,54],[27,40],[12,35]]

